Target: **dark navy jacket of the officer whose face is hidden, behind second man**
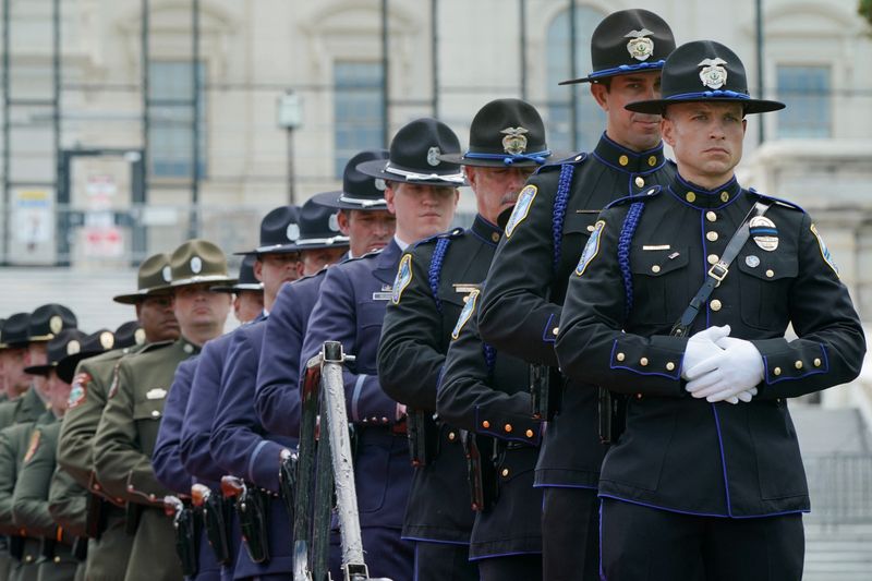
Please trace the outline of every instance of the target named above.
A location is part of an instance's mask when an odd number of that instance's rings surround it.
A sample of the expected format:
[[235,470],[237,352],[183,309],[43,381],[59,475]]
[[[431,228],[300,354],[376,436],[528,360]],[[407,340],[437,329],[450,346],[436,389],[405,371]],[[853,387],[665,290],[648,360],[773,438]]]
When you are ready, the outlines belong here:
[[482,342],[480,293],[457,323],[436,398],[439,417],[480,434],[482,461],[496,444],[496,501],[475,515],[470,559],[542,553],[542,491],[533,487],[542,424],[530,416],[526,362]]

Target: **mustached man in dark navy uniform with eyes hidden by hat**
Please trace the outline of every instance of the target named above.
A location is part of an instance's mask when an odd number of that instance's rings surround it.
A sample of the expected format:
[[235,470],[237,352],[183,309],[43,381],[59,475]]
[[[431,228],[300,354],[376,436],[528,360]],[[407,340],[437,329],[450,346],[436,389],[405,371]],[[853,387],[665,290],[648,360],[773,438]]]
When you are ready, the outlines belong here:
[[[470,128],[470,148],[445,154],[464,166],[475,194],[472,228],[417,242],[400,259],[378,349],[385,392],[408,406],[415,467],[403,538],[415,543],[415,579],[479,579],[470,562],[474,513],[468,496],[467,460],[457,427],[434,420],[436,385],[464,299],[487,275],[502,230],[499,214],[550,156],[538,112],[519,99],[491,101]],[[541,503],[540,503],[541,506]]]

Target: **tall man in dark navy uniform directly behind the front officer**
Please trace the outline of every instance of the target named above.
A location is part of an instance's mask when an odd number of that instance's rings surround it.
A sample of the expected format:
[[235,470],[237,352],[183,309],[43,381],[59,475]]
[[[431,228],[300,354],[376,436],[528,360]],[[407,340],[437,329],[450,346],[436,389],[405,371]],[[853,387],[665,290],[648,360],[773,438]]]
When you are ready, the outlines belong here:
[[596,483],[605,452],[596,428],[596,392],[566,384],[557,371],[560,307],[598,211],[613,199],[667,183],[674,173],[663,155],[659,117],[623,109],[659,94],[659,70],[674,48],[669,26],[646,10],[615,12],[600,23],[591,39],[593,72],[569,82],[591,83],[606,112],[606,131],[593,152],[545,166],[531,178],[481,296],[483,339],[550,378],[550,409],[536,410],[536,415],[553,415],[536,468],[536,486],[545,488],[543,576],[548,580],[597,576]]

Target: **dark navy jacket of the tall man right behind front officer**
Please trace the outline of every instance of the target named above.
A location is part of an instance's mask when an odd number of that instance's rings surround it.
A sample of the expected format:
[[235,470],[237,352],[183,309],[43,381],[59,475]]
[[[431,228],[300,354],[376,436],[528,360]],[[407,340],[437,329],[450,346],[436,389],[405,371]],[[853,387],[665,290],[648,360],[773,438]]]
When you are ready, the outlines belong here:
[[[600,210],[667,183],[674,171],[662,145],[635,153],[603,135],[591,154],[544,166],[531,177],[487,275],[479,314],[484,340],[506,354],[556,366],[566,286]],[[553,386],[553,397],[555,391]],[[536,484],[596,487],[604,452],[596,390],[565,385],[560,412],[540,452]]]

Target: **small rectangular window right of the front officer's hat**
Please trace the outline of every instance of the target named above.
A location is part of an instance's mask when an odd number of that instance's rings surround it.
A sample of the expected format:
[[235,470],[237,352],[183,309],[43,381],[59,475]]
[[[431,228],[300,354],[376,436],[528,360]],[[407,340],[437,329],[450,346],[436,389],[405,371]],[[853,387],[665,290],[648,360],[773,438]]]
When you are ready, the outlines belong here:
[[829,66],[779,64],[777,71],[778,98],[787,104],[777,116],[778,137],[829,137]]

